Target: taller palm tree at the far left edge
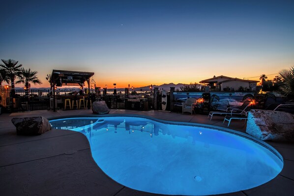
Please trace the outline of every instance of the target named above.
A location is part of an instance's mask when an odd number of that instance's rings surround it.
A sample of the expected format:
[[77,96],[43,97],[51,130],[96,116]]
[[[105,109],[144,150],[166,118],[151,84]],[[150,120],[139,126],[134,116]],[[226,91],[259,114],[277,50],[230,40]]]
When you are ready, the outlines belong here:
[[11,83],[11,96],[14,97],[15,95],[15,85],[14,80],[17,76],[20,75],[20,67],[23,66],[22,64],[18,65],[18,61],[13,59],[4,60],[1,59],[4,64],[0,64],[0,67],[3,68],[3,71],[6,73],[6,77],[8,82]]

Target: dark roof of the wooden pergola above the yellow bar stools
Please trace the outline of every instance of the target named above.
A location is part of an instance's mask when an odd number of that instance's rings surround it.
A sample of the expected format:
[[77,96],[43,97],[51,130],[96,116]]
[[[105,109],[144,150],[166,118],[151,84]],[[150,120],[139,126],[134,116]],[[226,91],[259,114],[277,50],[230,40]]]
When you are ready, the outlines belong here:
[[62,86],[62,84],[83,85],[86,81],[94,75],[93,72],[82,72],[82,71],[67,71],[67,70],[56,70],[54,69],[51,74],[51,85]]

